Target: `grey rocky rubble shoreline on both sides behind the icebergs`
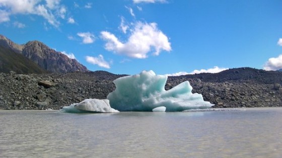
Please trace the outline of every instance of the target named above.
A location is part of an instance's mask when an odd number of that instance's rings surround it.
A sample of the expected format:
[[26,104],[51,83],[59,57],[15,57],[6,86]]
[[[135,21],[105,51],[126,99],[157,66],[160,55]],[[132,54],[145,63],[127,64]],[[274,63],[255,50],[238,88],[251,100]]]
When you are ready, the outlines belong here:
[[[0,73],[0,109],[58,110],[88,98],[106,99],[115,89],[113,81],[121,76],[106,71]],[[202,94],[205,101],[215,104],[214,108],[280,107],[281,76],[281,72],[230,69],[218,74],[169,77],[165,89],[189,81],[192,92]]]

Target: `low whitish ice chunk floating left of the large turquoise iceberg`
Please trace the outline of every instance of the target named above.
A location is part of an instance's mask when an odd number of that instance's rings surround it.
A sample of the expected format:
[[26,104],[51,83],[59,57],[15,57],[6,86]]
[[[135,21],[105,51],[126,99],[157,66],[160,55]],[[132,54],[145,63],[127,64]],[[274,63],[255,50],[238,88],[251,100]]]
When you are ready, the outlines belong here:
[[111,108],[109,100],[107,99],[86,99],[80,103],[72,104],[70,106],[62,107],[61,111],[70,113],[112,113],[119,112]]

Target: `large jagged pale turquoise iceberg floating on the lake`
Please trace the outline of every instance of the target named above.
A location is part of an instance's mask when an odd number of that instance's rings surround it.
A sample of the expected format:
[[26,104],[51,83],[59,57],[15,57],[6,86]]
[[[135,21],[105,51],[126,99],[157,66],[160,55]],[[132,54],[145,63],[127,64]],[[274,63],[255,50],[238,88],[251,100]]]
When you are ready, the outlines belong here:
[[188,81],[166,91],[167,77],[150,70],[117,78],[116,89],[107,99],[111,107],[119,111],[184,111],[213,106],[205,102],[201,94],[193,94]]

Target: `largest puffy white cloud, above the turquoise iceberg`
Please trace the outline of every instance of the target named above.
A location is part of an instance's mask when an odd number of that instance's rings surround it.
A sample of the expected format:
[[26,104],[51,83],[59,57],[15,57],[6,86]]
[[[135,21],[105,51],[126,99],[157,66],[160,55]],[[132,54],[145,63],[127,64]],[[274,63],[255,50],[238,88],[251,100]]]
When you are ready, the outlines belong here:
[[101,38],[107,41],[105,49],[140,59],[147,58],[152,51],[153,55],[159,55],[162,50],[171,51],[168,37],[158,29],[156,23],[136,22],[130,31],[129,38],[124,43],[114,34],[102,31]]

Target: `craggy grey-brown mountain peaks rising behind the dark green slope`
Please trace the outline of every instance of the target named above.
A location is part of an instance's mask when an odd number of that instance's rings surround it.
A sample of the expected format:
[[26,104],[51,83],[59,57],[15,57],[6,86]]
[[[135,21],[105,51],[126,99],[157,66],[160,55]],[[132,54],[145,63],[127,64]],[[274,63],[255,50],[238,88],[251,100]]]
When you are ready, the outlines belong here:
[[73,71],[89,71],[76,59],[70,59],[66,55],[49,48],[40,41],[30,41],[26,44],[19,45],[7,37],[0,35],[0,46],[2,46],[3,49],[5,48],[4,50],[7,49],[22,54],[42,69],[50,72],[65,73]]

